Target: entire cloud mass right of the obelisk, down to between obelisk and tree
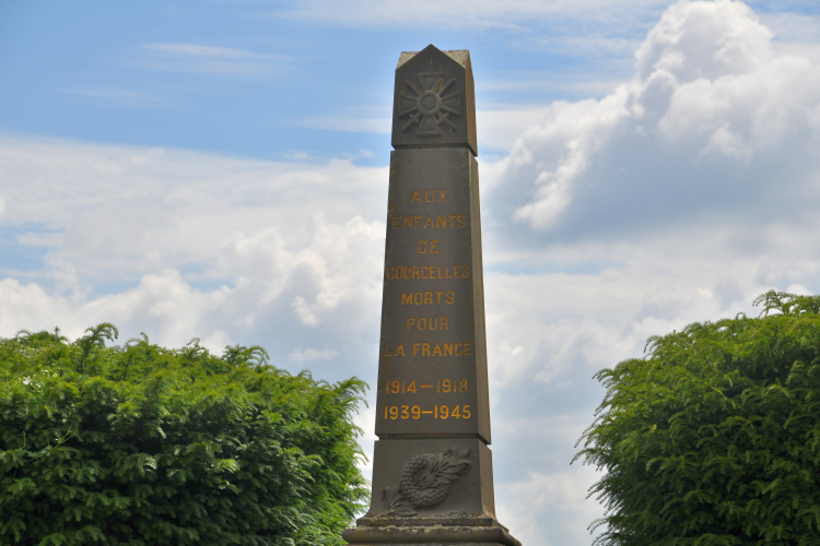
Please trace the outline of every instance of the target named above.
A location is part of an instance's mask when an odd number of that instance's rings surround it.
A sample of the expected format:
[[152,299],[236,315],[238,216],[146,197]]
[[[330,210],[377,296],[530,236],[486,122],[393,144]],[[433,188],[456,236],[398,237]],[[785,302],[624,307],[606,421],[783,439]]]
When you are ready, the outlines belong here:
[[[820,290],[820,63],[801,51],[741,2],[679,2],[637,48],[632,81],[553,103],[485,166],[495,452],[527,453],[512,455],[507,502],[549,514],[577,501],[561,484],[591,483],[564,466],[554,424],[534,419],[576,419],[577,439],[601,400],[595,371],[649,335],[753,316],[766,289]],[[508,515],[530,542],[567,529]]]

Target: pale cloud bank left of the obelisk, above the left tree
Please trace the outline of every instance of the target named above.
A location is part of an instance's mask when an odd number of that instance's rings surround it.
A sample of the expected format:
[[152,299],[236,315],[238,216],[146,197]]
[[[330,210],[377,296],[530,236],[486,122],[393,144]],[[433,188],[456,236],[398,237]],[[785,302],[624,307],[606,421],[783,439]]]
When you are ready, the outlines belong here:
[[43,253],[34,270],[3,264],[17,273],[0,288],[0,335],[110,321],[172,345],[267,344],[281,364],[319,335],[330,377],[364,371],[339,363],[377,336],[385,168],[1,144],[4,225]]

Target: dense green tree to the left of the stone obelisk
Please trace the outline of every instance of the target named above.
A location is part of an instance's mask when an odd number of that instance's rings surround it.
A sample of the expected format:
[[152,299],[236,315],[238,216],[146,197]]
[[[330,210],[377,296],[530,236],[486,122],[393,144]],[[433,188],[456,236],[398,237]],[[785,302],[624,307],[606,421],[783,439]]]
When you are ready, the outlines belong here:
[[343,544],[362,381],[116,336],[0,339],[0,544]]

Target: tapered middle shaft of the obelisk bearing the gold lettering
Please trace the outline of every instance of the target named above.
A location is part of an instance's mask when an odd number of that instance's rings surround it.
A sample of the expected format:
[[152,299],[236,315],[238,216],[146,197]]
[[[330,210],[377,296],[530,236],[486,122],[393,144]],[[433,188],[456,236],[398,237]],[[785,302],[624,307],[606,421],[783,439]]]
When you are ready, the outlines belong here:
[[397,150],[388,195],[376,435],[490,443],[478,164]]

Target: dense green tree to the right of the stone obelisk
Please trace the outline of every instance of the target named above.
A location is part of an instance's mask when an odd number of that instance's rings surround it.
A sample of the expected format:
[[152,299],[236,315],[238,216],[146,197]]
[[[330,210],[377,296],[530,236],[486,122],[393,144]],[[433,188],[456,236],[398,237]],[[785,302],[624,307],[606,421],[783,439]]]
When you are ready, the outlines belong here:
[[820,297],[651,337],[575,459],[606,471],[600,545],[820,544]]

